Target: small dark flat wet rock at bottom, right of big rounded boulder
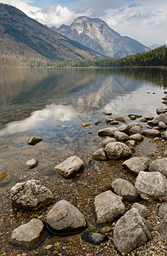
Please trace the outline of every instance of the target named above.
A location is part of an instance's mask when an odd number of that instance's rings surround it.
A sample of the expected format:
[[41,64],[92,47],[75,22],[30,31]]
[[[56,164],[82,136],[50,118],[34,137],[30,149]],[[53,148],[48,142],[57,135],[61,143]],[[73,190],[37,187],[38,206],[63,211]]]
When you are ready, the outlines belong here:
[[81,235],[81,238],[83,241],[87,241],[93,245],[101,244],[102,242],[108,241],[108,237],[98,233],[98,232],[91,232],[91,231],[85,231]]

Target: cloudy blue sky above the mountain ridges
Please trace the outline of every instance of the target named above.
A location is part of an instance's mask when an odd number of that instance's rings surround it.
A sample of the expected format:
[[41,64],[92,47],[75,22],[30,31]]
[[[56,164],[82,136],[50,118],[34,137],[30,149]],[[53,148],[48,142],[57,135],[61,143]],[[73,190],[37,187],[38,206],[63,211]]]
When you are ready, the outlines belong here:
[[78,16],[105,20],[141,44],[167,44],[167,0],[0,0],[47,26],[70,25]]

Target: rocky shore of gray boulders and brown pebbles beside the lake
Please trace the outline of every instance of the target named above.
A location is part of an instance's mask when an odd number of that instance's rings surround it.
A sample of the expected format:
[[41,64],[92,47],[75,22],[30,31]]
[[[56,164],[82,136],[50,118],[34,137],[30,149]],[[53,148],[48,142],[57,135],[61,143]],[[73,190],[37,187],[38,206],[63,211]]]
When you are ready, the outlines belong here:
[[[165,100],[163,100],[166,101],[166,96],[164,98]],[[141,115],[132,113],[129,116],[132,121],[128,125],[115,123],[115,120],[124,122],[124,117],[106,120],[107,128],[98,131],[98,135],[103,137],[101,148],[92,154],[92,159],[98,161],[98,166],[90,172],[96,175],[98,182],[101,181],[98,175],[102,176],[101,165],[105,161],[108,164],[107,169],[110,169],[108,177],[117,166],[124,173],[124,178],[117,177],[118,174],[116,174],[116,177],[112,178],[112,183],[111,179],[102,179],[102,183],[93,185],[95,191],[91,195],[83,196],[84,199],[79,198],[82,192],[79,189],[75,191],[75,196],[69,195],[66,196],[68,197],[66,200],[65,198],[58,200],[56,189],[51,192],[52,189],[47,189],[39,181],[29,180],[26,183],[16,183],[10,194],[14,207],[34,211],[56,201],[54,206],[56,210],[54,213],[50,213],[54,207],[48,207],[46,211],[42,210],[41,214],[37,212],[37,216],[32,214],[33,218],[29,217],[30,221],[13,230],[9,241],[19,247],[9,255],[108,255],[111,253],[112,255],[119,255],[119,253],[129,255],[130,252],[130,255],[136,253],[137,255],[165,255],[165,243],[167,242],[165,203],[167,196],[167,109],[158,108],[156,112],[158,114],[156,118],[144,117],[139,122],[134,122],[134,119],[141,118]],[[109,115],[109,113],[103,114]],[[142,122],[147,122],[150,128],[143,131]],[[89,124],[82,126],[86,128],[89,127]],[[140,155],[132,156],[135,153],[135,145],[142,143],[143,135],[152,137],[153,142],[157,143],[159,148],[155,155],[150,155],[145,159]],[[39,139],[39,142],[42,141],[41,138]],[[37,166],[37,163],[34,166],[34,161],[32,164],[32,167],[29,166],[29,168]],[[67,158],[55,166],[55,172],[67,179],[68,186],[72,186],[72,180],[68,178],[79,177],[82,172],[85,173],[83,169],[83,160],[77,156]],[[89,172],[87,174],[92,177]],[[8,175],[5,176],[5,173],[1,175],[2,181],[8,177]],[[92,180],[90,178],[89,183],[91,182],[95,183],[95,177]],[[68,189],[66,188],[66,190]],[[90,190],[92,191],[92,189]],[[49,196],[47,197],[46,194]],[[57,206],[59,202],[60,206]],[[145,212],[144,215],[143,212]],[[78,220],[78,224],[76,224],[76,220]],[[38,222],[38,224],[34,225],[32,222]],[[59,226],[59,222],[62,226]],[[28,226],[26,231],[23,231],[22,226],[29,223],[31,223],[31,228]],[[66,225],[64,225],[65,223]],[[27,242],[24,241],[28,237],[27,230],[34,234],[36,232],[33,229],[37,225],[40,226],[37,236],[33,237],[33,241],[29,239],[30,242],[27,245]],[[49,236],[43,241],[42,249],[39,246],[33,248],[31,252],[26,251],[36,244],[37,237],[43,236],[43,229],[46,231],[47,225]],[[87,227],[89,233],[86,233],[85,236],[80,235],[81,231]],[[17,229],[19,229],[18,232],[16,232]],[[20,238],[20,230],[22,230],[21,234],[25,232],[25,237]],[[79,234],[73,235],[75,231]],[[71,233],[72,236],[69,236]],[[62,235],[68,235],[68,237],[62,238]],[[2,255],[8,254],[4,250]]]

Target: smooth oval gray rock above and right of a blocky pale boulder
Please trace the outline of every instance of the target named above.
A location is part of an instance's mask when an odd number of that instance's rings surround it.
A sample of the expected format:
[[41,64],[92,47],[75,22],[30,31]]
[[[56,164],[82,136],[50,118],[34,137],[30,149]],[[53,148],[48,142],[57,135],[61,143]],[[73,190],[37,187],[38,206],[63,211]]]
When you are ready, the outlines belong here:
[[138,201],[140,199],[140,195],[134,185],[123,178],[116,178],[112,182],[112,189],[117,195],[122,196],[124,200]]

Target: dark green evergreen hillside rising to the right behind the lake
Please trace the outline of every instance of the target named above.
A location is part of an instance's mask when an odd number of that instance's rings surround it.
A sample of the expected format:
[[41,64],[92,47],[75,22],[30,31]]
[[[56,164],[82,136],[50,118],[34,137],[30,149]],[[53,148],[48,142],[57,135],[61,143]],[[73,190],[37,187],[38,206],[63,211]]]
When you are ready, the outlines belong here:
[[126,56],[120,59],[105,59],[98,61],[79,61],[74,67],[159,67],[167,66],[167,47],[149,50],[136,55]]

